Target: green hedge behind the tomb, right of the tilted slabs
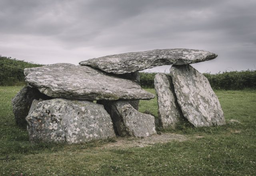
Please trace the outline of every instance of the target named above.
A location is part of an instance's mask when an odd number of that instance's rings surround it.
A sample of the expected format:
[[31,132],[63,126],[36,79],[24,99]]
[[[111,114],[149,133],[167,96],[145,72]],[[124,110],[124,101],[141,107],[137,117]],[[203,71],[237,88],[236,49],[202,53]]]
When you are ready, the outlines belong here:
[[[156,73],[140,72],[140,84],[143,88],[154,88]],[[242,90],[256,88],[256,70],[232,71],[218,74],[204,73],[213,89]]]

